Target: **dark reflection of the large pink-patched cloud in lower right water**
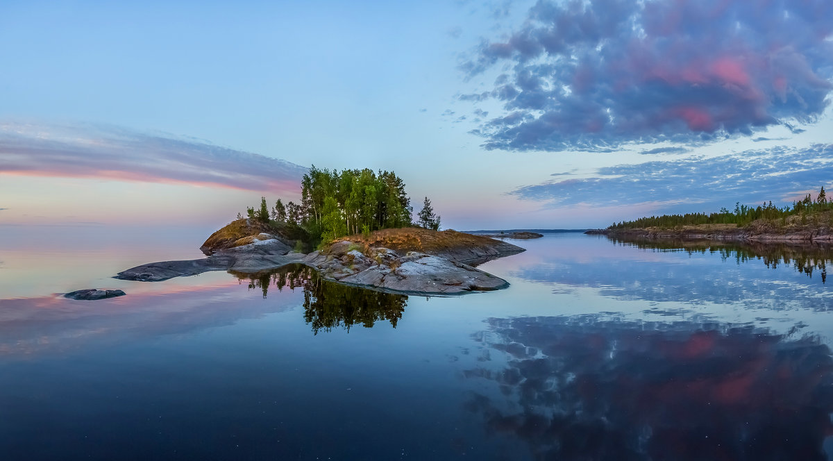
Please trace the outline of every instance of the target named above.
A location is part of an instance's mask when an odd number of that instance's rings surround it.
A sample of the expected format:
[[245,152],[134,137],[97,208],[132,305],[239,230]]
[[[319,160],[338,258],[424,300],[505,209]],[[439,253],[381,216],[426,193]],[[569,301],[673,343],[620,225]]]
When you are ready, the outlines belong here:
[[833,360],[817,338],[595,316],[488,322],[482,357],[501,351],[507,366],[466,377],[501,393],[466,406],[533,458],[826,459]]

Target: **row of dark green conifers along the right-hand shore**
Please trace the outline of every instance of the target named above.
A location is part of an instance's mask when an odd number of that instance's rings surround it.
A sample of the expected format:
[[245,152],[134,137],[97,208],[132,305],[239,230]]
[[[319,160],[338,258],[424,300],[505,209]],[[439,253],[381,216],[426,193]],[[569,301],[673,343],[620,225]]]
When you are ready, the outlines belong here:
[[821,213],[831,209],[833,209],[833,202],[827,200],[825,188],[822,187],[816,200],[813,200],[808,193],[803,200],[793,202],[792,206],[783,208],[773,206],[772,202],[763,203],[757,207],[748,207],[736,202],[734,211],[721,208],[721,211],[709,214],[663,214],[662,216],[613,223],[608,229],[674,228],[676,226],[697,224],[737,224],[744,226],[756,219],[781,220],[782,223],[786,223],[786,219],[790,216],[801,215],[803,218],[808,214]]

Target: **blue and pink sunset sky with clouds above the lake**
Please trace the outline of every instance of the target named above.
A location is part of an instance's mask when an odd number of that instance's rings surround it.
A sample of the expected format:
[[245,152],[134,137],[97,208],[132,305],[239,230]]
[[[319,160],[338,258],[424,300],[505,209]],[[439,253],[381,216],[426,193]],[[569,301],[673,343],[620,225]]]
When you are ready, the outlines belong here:
[[458,230],[833,186],[829,0],[7,0],[0,62],[0,225],[218,228],[313,164]]

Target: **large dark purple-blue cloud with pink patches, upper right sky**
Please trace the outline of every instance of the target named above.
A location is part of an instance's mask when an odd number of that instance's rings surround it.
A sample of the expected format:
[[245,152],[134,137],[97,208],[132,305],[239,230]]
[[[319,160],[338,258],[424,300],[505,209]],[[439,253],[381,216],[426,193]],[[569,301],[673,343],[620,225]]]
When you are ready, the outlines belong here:
[[830,0],[540,0],[506,41],[461,64],[497,63],[506,113],[472,133],[488,149],[599,150],[701,143],[771,125],[800,130],[833,89]]

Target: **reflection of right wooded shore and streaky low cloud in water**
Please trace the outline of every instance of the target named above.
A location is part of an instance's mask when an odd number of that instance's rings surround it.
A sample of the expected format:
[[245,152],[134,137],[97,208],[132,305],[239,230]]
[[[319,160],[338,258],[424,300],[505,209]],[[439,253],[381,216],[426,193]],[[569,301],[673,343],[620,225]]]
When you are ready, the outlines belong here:
[[824,283],[826,266],[833,258],[830,245],[582,237],[568,250],[566,245],[536,248],[541,258],[518,263],[507,273],[549,284],[556,294],[593,288],[617,301],[676,303],[686,308],[733,304],[770,312],[833,309],[833,293]]

